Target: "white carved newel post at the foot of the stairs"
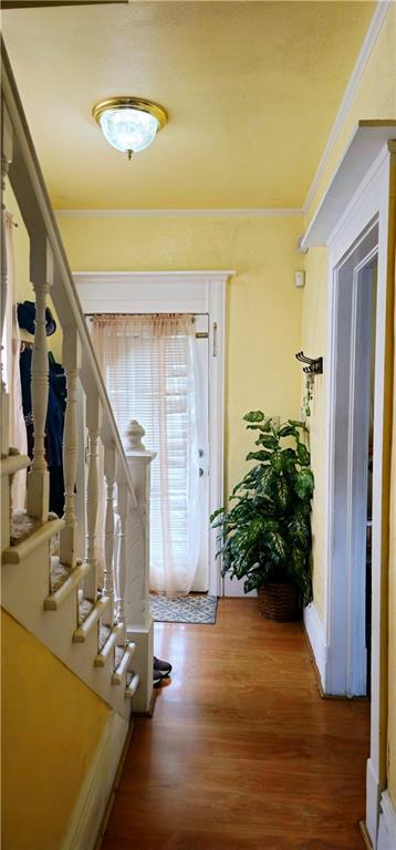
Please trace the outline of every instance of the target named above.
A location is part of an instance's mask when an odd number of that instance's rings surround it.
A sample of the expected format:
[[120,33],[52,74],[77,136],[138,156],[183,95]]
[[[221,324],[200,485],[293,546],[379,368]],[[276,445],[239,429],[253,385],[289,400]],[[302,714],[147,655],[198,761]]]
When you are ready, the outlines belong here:
[[[124,434],[126,459],[134,481],[129,500],[127,539],[128,563],[125,585],[125,621],[129,641],[136,643],[134,668],[140,685],[134,697],[135,712],[149,712],[153,696],[154,626],[149,611],[149,506],[150,464],[156,457],[142,443],[145,431],[132,419]],[[135,504],[134,504],[135,502]]]

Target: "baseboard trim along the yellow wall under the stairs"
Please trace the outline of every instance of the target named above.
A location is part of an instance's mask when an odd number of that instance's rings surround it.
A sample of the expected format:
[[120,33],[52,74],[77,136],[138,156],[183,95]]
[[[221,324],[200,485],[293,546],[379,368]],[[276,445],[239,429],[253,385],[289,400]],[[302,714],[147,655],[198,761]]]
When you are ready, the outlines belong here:
[[96,747],[60,850],[94,850],[111,798],[129,726],[112,712]]

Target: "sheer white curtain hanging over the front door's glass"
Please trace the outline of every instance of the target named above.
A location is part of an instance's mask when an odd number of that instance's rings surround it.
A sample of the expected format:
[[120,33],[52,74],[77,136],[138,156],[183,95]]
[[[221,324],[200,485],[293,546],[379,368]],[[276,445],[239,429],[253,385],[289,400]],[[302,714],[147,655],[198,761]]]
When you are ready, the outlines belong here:
[[183,314],[98,315],[93,344],[123,433],[131,418],[152,464],[150,589],[188,593],[199,554],[195,323]]

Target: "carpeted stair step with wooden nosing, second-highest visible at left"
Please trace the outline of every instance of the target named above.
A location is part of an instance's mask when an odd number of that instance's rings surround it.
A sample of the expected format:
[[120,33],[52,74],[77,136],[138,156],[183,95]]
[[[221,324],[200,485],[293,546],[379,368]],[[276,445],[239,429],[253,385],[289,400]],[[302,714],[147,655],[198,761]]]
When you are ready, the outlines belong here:
[[3,563],[20,563],[45,540],[50,540],[64,528],[64,520],[53,514],[48,522],[28,517],[25,511],[14,511],[11,537],[14,541],[2,553]]

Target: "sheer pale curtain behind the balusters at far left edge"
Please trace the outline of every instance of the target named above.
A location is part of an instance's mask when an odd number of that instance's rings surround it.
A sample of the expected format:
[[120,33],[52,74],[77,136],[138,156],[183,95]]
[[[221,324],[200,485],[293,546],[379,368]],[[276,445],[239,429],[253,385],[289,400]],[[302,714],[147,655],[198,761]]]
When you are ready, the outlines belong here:
[[[3,380],[10,395],[10,443],[22,455],[28,454],[27,428],[23,418],[21,376],[19,354],[21,339],[17,320],[15,270],[13,256],[13,218],[11,212],[3,212],[7,263],[7,301],[1,359]],[[27,470],[14,475],[12,483],[12,507],[24,508],[27,495]]]

